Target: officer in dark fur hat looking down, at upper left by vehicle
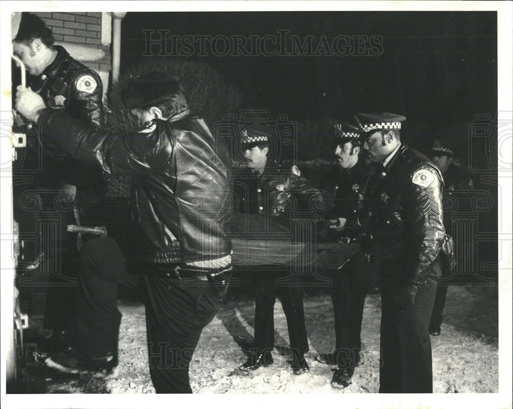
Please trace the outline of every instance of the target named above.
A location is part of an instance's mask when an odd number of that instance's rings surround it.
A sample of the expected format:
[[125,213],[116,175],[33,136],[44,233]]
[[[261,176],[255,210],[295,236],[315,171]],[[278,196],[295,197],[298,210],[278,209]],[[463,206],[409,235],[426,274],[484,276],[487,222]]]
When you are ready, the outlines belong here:
[[[54,45],[52,31],[42,19],[34,14],[22,13],[18,33],[13,40],[13,52],[22,60],[29,74],[27,84],[42,96],[47,107],[63,110],[74,118],[104,126],[102,104],[103,86],[100,76],[77,62],[61,46]],[[67,192],[73,199],[78,194],[81,202],[90,204],[100,196],[102,184],[100,170],[81,163],[71,166],[65,158],[47,155],[44,151],[43,172],[32,175],[36,188],[58,189]],[[63,237],[67,237],[66,224],[75,222],[71,212],[65,215]],[[69,235],[61,244],[61,257],[65,276],[73,276],[76,248],[74,235]],[[49,256],[47,254],[47,256]],[[66,281],[66,280],[64,280]],[[45,305],[45,328],[53,330],[47,343],[51,349],[65,349],[71,328],[72,288],[60,275],[52,274]]]

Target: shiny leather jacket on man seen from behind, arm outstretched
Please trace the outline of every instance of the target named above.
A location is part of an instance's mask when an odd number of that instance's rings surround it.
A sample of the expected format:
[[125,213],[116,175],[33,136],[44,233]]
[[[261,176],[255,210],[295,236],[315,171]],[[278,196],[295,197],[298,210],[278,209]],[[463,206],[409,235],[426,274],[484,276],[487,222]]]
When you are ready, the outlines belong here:
[[223,228],[229,193],[226,158],[205,121],[188,110],[148,122],[140,132],[104,131],[61,111],[39,117],[46,149],[137,177],[141,255],[156,263],[218,260],[231,252]]

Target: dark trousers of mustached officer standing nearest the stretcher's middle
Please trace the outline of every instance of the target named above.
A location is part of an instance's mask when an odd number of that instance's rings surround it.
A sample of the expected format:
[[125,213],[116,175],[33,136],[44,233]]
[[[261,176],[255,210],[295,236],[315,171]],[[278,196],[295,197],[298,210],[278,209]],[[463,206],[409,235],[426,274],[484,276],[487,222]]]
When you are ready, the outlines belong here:
[[269,270],[254,271],[255,295],[254,349],[267,353],[274,349],[274,302],[278,294],[287,318],[290,349],[295,357],[308,351],[301,276]]

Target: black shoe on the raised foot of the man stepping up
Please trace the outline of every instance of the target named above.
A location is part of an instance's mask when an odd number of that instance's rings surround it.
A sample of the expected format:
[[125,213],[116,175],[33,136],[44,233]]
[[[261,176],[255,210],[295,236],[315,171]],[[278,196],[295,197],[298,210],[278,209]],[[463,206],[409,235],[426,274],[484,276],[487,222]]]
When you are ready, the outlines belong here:
[[95,378],[115,378],[119,373],[117,357],[108,354],[102,358],[78,355],[73,349],[45,360],[46,366],[66,374],[87,374]]

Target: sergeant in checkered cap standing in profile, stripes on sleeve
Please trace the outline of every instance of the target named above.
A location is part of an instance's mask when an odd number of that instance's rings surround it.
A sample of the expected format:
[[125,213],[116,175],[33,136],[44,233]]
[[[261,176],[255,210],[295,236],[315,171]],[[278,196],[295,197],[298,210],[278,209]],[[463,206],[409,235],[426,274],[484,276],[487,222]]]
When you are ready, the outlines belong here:
[[432,393],[429,319],[445,238],[443,179],[401,142],[406,118],[355,115],[363,149],[376,163],[365,201],[371,252],[381,260],[380,393]]

